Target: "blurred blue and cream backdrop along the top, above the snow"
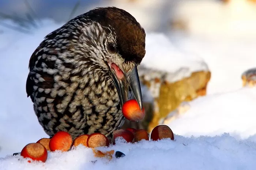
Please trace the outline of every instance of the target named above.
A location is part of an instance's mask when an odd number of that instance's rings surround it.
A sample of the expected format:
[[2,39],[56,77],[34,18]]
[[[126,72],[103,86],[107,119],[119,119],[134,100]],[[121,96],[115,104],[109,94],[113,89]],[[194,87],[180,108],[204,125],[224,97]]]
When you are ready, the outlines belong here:
[[255,0],[1,0],[0,19],[12,19],[28,30],[26,21],[53,19],[64,23],[99,6],[127,10],[147,31],[181,30],[211,37],[256,35],[252,22]]

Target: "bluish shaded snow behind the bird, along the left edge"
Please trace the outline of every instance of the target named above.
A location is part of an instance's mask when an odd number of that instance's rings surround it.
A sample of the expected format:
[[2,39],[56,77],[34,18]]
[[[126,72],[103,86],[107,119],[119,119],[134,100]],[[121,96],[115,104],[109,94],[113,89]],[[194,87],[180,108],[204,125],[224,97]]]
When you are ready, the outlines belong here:
[[0,157],[21,151],[30,141],[49,137],[39,125],[26,94],[30,56],[45,35],[60,26],[49,20],[45,25],[31,35],[8,29],[0,35]]

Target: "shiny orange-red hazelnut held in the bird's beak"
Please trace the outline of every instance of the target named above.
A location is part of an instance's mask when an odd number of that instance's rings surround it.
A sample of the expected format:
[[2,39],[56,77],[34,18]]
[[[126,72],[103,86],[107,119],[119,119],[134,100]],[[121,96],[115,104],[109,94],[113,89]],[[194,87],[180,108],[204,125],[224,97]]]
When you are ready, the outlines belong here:
[[122,112],[125,118],[129,121],[142,121],[145,116],[144,107],[140,110],[140,107],[135,99],[128,100],[122,107]]

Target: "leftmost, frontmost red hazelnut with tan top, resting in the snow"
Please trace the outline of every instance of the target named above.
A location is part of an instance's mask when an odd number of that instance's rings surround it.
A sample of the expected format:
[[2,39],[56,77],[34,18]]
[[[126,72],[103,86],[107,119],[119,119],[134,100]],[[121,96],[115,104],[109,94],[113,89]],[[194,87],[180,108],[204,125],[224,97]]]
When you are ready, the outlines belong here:
[[[42,162],[45,162],[48,156],[45,147],[40,143],[27,144],[20,152],[20,155],[24,158],[31,158],[32,160],[38,160]],[[31,161],[28,160],[28,162]]]

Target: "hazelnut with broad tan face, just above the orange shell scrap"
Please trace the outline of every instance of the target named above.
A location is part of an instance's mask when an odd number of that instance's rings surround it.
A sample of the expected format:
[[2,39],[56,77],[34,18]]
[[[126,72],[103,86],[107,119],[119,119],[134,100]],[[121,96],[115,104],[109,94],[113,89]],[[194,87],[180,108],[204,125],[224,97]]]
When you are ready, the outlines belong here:
[[101,133],[93,133],[87,139],[87,146],[90,148],[109,146],[109,140]]

